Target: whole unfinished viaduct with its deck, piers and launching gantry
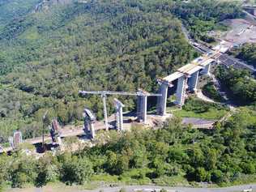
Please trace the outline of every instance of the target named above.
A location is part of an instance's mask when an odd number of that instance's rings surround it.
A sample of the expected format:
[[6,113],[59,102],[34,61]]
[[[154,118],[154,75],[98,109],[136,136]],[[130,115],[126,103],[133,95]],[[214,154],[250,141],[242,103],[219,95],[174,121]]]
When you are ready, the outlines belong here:
[[[164,78],[157,79],[160,84],[158,93],[148,93],[141,89],[138,92],[109,92],[109,91],[80,91],[79,94],[88,95],[88,94],[96,94],[100,95],[103,100],[104,105],[104,114],[105,114],[105,130],[109,130],[109,120],[107,115],[107,107],[106,107],[106,98],[107,95],[120,95],[120,96],[137,96],[137,120],[139,122],[143,122],[143,124],[147,124],[147,97],[148,96],[156,96],[157,97],[157,106],[156,113],[158,117],[167,117],[166,114],[166,103],[168,99],[168,89],[169,87],[174,86],[174,82],[177,81],[177,90],[175,93],[176,100],[175,104],[178,106],[182,106],[185,103],[187,90],[190,92],[197,91],[198,85],[198,76],[199,75],[211,75],[211,64],[220,63],[220,56],[227,52],[228,49],[232,48],[233,44],[228,41],[222,41],[220,45],[216,45],[213,49],[209,50],[207,53],[204,53],[201,57],[194,59],[194,61],[190,62],[186,66],[182,66],[176,72],[171,75],[168,75]],[[113,104],[115,105],[116,113],[115,113],[115,122],[117,130],[124,130],[123,128],[123,112],[122,108],[124,105],[120,100],[116,98],[113,100]],[[66,133],[65,136],[68,137],[70,135],[79,135],[79,134],[87,134],[91,137],[91,139],[95,138],[96,132],[95,130],[99,130],[99,127],[96,127],[96,117],[92,113],[90,109],[84,109],[83,113],[84,117],[84,125],[83,128],[77,130],[74,133]],[[57,122],[53,121],[53,128],[57,125]],[[103,126],[103,125],[102,125]],[[100,129],[102,129],[102,126]],[[103,127],[104,127],[103,126]],[[60,140],[63,137],[63,134],[55,133],[56,130],[52,130],[54,137]],[[57,136],[56,136],[57,135]],[[52,136],[53,143],[56,142],[56,138]],[[50,137],[48,138],[50,139]],[[41,143],[41,139],[31,139],[29,143]],[[61,143],[61,142],[58,142]],[[10,151],[11,148],[6,149],[6,151]],[[0,150],[1,151],[1,150]]]

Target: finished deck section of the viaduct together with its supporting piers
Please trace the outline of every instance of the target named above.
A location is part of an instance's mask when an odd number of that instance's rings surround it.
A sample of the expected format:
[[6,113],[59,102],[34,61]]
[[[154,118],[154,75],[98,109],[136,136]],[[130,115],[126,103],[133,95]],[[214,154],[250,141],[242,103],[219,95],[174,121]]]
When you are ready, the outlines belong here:
[[167,77],[158,79],[160,83],[159,93],[162,95],[158,98],[157,113],[159,115],[166,114],[166,102],[168,97],[168,88],[173,87],[173,82],[177,80],[177,91],[175,104],[182,106],[186,100],[186,91],[197,91],[198,75],[211,75],[211,64],[219,63],[219,58],[222,53],[225,53],[233,45],[228,41],[222,41],[220,45],[216,45],[209,52],[204,53],[203,56],[194,59],[186,66],[182,66],[176,72]]

